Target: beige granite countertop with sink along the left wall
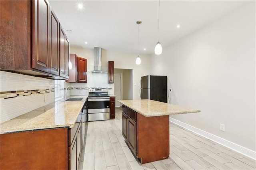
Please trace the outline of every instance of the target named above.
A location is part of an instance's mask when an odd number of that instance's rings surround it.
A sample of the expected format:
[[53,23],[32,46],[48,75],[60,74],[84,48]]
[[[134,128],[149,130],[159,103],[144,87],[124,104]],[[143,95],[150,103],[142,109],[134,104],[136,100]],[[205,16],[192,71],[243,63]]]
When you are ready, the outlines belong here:
[[87,96],[82,101],[56,101],[0,124],[0,134],[46,128],[74,127]]

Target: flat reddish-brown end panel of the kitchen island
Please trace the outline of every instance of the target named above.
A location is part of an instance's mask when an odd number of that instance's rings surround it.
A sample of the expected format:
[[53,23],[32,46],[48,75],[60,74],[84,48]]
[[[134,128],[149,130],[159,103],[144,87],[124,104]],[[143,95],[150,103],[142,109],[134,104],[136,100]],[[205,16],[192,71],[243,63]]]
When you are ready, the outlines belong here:
[[144,117],[137,114],[137,136],[137,157],[142,164],[169,157],[168,115]]

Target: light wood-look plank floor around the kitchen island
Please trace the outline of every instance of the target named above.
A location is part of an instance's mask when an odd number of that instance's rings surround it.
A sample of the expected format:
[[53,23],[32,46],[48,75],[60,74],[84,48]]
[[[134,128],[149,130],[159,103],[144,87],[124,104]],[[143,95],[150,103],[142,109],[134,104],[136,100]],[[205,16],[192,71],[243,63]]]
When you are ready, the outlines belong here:
[[124,142],[120,109],[116,109],[116,119],[88,123],[86,145],[80,156],[79,170],[256,169],[255,160],[172,123],[170,157],[140,164]]

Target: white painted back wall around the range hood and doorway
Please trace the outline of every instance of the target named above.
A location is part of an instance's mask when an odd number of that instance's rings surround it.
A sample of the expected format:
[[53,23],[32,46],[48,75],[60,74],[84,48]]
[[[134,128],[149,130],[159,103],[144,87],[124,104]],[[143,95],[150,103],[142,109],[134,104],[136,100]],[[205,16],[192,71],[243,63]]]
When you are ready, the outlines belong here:
[[[86,49],[82,47],[73,47],[70,46],[70,53],[75,53],[79,57],[83,57],[87,59],[87,67],[92,68],[94,66],[94,49]],[[148,75],[150,73],[150,56],[149,55],[140,55],[141,64],[136,65],[135,60],[138,54],[132,53],[120,53],[115,51],[106,51],[102,49],[102,70],[107,71],[108,61],[114,61],[114,68],[117,69],[133,69],[133,99],[140,99],[139,93],[139,85],[140,85],[140,77],[144,75]],[[90,74],[88,70],[88,74]],[[98,73],[97,73],[98,74]],[[89,76],[88,76],[89,77]],[[89,81],[88,84],[84,85],[86,87],[92,87],[89,83],[93,82]],[[75,84],[75,83],[71,83]],[[108,84],[114,88],[113,84]]]

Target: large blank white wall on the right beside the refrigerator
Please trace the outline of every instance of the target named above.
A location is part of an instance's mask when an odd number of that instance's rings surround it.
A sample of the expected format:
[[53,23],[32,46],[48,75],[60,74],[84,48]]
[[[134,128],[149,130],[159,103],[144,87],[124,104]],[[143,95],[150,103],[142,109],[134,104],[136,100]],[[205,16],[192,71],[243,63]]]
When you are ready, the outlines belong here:
[[254,1],[164,47],[151,61],[151,74],[168,75],[172,104],[201,110],[172,118],[254,151],[255,14]]

